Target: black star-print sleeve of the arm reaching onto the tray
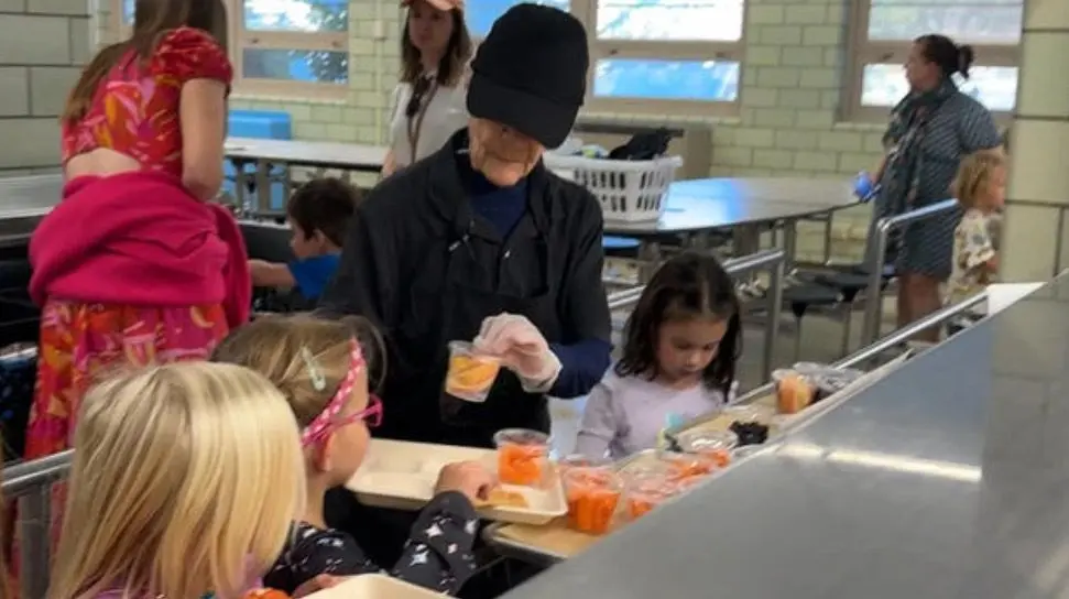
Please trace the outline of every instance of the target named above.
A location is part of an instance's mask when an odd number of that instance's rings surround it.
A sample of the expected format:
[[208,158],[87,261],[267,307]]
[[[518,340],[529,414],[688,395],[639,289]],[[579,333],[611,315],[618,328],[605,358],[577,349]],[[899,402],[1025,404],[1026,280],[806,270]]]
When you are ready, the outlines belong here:
[[478,529],[479,516],[468,498],[455,491],[438,494],[419,513],[391,575],[456,593],[476,570],[471,547]]

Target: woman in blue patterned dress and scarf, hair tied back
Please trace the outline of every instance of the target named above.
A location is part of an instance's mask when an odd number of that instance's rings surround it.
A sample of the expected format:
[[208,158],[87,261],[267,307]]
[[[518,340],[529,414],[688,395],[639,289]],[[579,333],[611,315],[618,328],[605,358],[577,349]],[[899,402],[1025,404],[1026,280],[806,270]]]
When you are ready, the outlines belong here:
[[[915,210],[950,197],[958,162],[1000,142],[994,119],[961,92],[953,75],[969,77],[973,52],[942,35],[923,35],[906,62],[909,94],[895,106],[884,133],[886,157],[877,173],[876,217]],[[893,233],[888,252],[898,273],[898,326],[939,309],[939,285],[950,275],[953,230],[960,210],[907,225]],[[871,236],[870,236],[871,237]],[[918,340],[936,341],[931,328]]]

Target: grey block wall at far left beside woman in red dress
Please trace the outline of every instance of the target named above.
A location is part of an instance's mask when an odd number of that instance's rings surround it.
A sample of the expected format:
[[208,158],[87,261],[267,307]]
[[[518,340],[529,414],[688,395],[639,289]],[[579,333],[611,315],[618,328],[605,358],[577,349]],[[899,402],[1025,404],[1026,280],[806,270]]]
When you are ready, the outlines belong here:
[[89,58],[87,0],[0,0],[0,176],[55,171],[57,117]]

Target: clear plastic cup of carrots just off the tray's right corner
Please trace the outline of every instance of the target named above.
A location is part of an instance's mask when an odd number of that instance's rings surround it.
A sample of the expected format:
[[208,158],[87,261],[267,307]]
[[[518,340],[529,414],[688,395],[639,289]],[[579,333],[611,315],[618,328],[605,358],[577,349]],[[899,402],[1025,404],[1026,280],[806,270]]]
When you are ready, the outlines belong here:
[[588,534],[604,534],[612,527],[623,482],[601,466],[572,466],[564,473],[568,497],[568,526]]

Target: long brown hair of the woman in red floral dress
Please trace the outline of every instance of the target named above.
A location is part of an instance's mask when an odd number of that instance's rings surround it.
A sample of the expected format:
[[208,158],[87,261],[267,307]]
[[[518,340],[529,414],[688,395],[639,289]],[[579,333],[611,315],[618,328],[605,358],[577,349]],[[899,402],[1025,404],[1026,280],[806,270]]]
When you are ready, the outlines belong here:
[[100,80],[129,51],[146,61],[164,34],[181,26],[199,29],[227,47],[227,12],[222,0],[138,0],[130,39],[111,44],[92,57],[67,97],[63,121],[74,122],[85,117]]

